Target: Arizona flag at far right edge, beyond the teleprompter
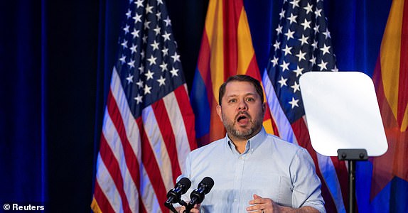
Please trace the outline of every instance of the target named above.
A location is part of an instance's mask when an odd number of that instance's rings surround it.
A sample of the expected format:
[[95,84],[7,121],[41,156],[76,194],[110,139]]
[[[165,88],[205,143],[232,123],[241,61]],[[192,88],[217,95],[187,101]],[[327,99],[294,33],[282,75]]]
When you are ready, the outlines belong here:
[[370,212],[408,212],[408,1],[392,2],[372,77],[388,141],[372,159]]

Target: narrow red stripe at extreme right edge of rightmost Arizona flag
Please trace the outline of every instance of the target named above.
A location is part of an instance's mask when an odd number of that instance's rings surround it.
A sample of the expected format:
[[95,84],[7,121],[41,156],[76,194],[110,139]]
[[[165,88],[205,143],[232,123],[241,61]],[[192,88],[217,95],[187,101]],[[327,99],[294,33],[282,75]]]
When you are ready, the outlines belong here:
[[[401,54],[399,55],[399,87],[397,121],[402,126],[408,104],[408,1],[404,1],[402,14]],[[404,129],[405,130],[405,129]]]

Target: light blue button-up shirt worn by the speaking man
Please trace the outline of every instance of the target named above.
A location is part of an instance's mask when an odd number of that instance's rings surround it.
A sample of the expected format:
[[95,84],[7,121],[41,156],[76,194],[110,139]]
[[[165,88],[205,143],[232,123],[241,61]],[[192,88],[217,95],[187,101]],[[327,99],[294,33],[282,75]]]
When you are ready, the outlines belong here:
[[240,154],[228,136],[192,151],[184,173],[189,195],[205,177],[213,178],[213,189],[205,195],[200,212],[247,212],[253,195],[268,197],[286,207],[311,206],[324,209],[321,182],[306,149],[272,136],[262,128],[247,141]]

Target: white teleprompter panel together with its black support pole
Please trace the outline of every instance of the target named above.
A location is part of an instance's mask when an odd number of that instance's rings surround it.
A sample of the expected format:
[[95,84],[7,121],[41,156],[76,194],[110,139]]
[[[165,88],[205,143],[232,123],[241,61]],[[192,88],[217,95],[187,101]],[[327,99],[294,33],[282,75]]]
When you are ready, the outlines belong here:
[[388,148],[374,84],[362,72],[306,72],[299,84],[314,150],[348,160],[348,212],[353,213],[356,162]]

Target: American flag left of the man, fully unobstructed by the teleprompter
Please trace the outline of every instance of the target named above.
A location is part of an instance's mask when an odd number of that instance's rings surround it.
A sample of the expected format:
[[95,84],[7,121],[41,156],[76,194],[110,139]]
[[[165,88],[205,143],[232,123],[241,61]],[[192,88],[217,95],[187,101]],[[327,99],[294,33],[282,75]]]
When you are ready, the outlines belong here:
[[97,156],[94,212],[166,212],[196,147],[181,59],[162,0],[129,2]]

